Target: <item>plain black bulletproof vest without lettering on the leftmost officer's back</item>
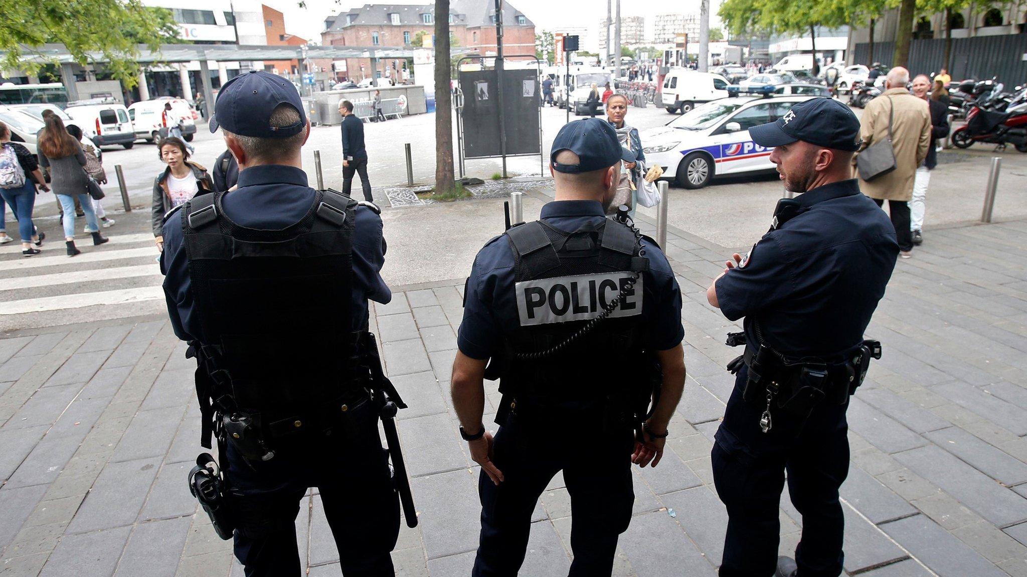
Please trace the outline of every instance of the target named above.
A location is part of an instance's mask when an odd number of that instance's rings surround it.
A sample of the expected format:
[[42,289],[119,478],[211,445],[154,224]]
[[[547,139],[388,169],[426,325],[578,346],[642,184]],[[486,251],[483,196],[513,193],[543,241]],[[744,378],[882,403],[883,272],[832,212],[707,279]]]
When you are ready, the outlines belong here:
[[197,196],[182,214],[197,337],[219,387],[230,389],[213,396],[228,395],[233,412],[269,426],[287,418],[316,422],[353,386],[356,202],[318,191],[299,222],[257,230],[228,218],[224,194]]

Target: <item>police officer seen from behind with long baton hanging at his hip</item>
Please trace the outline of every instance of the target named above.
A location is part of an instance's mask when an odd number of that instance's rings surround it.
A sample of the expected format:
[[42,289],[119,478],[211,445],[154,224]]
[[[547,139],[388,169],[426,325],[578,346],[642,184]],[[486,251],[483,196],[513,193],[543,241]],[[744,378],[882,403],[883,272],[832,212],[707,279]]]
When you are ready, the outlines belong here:
[[217,435],[227,484],[215,527],[234,529],[248,576],[299,576],[296,514],[317,487],[342,571],[393,575],[398,501],[366,369],[368,300],[391,298],[378,208],[307,185],[310,125],[288,80],[227,82],[219,127],[238,188],[169,214],[161,255],[172,325],[199,362],[201,440]]

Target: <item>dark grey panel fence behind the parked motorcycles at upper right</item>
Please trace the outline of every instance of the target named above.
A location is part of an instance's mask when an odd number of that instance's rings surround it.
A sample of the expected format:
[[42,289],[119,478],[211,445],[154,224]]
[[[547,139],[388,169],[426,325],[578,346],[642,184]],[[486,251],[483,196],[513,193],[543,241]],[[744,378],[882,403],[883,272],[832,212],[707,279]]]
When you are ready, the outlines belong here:
[[[875,42],[874,62],[891,66],[895,42]],[[953,80],[997,76],[1012,88],[1027,82],[1027,34],[953,38],[949,75]],[[909,47],[909,71],[913,74],[938,72],[945,66],[945,38],[913,40]],[[872,64],[870,44],[855,45],[855,62]]]

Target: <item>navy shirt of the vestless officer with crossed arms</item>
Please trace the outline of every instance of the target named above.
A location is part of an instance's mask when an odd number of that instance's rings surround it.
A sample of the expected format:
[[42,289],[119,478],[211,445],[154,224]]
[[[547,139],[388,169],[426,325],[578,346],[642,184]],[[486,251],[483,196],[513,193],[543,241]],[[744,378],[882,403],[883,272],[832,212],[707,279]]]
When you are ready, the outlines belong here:
[[720,310],[753,320],[783,354],[831,356],[863,341],[899,243],[887,215],[848,180],[799,195],[799,214],[766,233],[745,266],[717,280]]

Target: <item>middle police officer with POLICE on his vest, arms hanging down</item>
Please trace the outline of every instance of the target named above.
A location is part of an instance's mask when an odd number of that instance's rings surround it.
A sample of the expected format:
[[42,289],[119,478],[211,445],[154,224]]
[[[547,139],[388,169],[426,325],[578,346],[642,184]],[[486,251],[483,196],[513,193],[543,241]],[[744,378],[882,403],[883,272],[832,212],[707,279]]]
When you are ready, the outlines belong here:
[[[476,577],[517,575],[532,511],[561,470],[570,575],[610,575],[635,500],[631,465],[656,466],[662,455],[685,381],[681,291],[653,240],[627,219],[604,218],[625,154],[605,120],[561,128],[556,200],[541,220],[490,240],[467,279],[452,394],[482,467]],[[483,378],[496,377],[493,437]]]

